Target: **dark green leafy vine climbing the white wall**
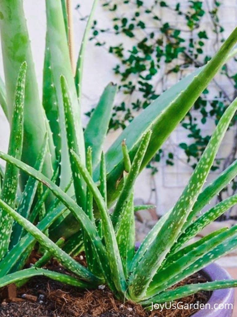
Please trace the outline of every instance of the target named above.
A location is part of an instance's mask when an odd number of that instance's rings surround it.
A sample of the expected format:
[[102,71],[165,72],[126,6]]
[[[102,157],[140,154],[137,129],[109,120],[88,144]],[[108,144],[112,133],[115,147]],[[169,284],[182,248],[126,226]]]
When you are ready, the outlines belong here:
[[[119,79],[121,95],[120,102],[113,109],[110,130],[124,129],[136,113],[146,108],[170,83],[210,60],[210,45],[213,52],[224,40],[224,27],[218,17],[222,2],[213,1],[208,7],[208,2],[196,0],[100,0],[111,17],[111,27],[104,29],[100,21],[95,20],[90,40],[117,58],[113,71]],[[80,4],[76,9],[80,10]],[[208,28],[205,27],[207,18]],[[105,33],[114,35],[115,45],[104,40]],[[221,76],[222,83],[227,82],[231,89],[227,91],[224,85],[214,80],[213,88],[203,91],[181,122],[189,142],[177,146],[183,149],[186,162],[193,168],[210,139],[210,135],[203,132],[204,128],[210,125],[210,120],[217,124],[236,96],[237,73],[233,72],[233,67],[230,68],[228,64],[223,66]],[[91,111],[87,113],[88,116],[90,114]],[[232,126],[236,120],[237,116]],[[237,135],[229,155],[216,159],[212,170],[232,162],[236,151]],[[168,165],[174,165],[175,152],[168,146],[159,150],[148,165],[151,172],[154,174],[158,171],[161,159]],[[231,189],[236,191],[235,181]],[[222,199],[222,193],[219,199]]]

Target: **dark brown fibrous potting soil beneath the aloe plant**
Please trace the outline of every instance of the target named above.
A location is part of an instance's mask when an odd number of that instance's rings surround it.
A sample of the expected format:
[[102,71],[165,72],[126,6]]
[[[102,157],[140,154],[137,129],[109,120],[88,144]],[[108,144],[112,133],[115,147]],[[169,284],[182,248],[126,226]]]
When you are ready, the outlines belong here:
[[[63,270],[57,262],[53,265],[55,270]],[[196,273],[179,286],[205,281],[204,275]],[[199,292],[181,301],[206,303],[209,298],[210,293]],[[80,291],[45,277],[32,278],[17,291],[14,285],[2,289],[0,303],[0,317],[189,317],[196,311],[163,310],[151,314],[140,305],[121,303],[107,288]]]

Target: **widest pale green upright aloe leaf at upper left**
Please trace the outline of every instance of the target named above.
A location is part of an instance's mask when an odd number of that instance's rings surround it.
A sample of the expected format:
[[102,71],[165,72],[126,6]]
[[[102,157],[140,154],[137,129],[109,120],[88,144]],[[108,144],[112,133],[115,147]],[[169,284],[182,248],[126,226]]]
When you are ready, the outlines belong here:
[[[3,0],[0,2],[0,11],[2,16],[0,20],[0,31],[6,83],[6,100],[10,123],[14,108],[15,83],[18,76],[18,70],[24,61],[27,62],[24,106],[24,141],[21,159],[33,166],[46,132],[48,132],[49,138],[51,138],[51,135],[40,102],[30,48],[30,39],[23,10],[23,1]],[[32,138],[32,135],[37,135],[37,138]],[[49,144],[51,144],[51,141],[52,140],[49,139]],[[47,155],[44,164],[44,173],[49,177],[52,175],[52,162],[55,161],[54,151],[51,152],[51,155],[51,158]],[[20,180],[21,184],[24,186],[26,175],[22,174]]]

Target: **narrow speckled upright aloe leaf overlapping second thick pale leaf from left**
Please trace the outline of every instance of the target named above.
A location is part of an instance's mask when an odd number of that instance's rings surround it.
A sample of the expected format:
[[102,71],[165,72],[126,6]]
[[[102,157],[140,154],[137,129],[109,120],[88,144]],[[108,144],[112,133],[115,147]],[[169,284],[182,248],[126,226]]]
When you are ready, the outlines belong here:
[[76,121],[78,118],[74,118],[73,110],[72,110],[72,103],[70,100],[69,89],[66,83],[65,77],[61,76],[61,89],[63,95],[63,104],[64,104],[64,117],[65,117],[65,127],[66,127],[66,137],[67,137],[67,144],[69,150],[69,159],[72,171],[72,178],[73,184],[75,189],[76,195],[76,202],[82,208],[85,207],[85,192],[83,187],[83,180],[81,179],[80,175],[77,173],[75,162],[71,155],[71,150],[73,150],[77,155],[80,155],[79,151],[79,143],[77,139],[77,132],[76,132]]

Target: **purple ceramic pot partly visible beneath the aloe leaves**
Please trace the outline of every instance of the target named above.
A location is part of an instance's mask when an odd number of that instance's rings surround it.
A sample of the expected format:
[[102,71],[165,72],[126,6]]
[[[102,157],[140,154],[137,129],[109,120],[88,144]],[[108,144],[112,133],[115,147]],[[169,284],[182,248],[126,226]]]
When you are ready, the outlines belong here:
[[[202,272],[210,281],[232,279],[226,270],[214,263],[208,265]],[[231,317],[234,307],[234,288],[213,291],[208,304],[210,304],[208,307],[199,310],[192,317]]]

